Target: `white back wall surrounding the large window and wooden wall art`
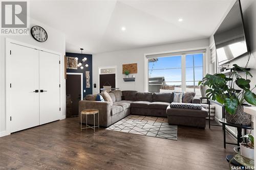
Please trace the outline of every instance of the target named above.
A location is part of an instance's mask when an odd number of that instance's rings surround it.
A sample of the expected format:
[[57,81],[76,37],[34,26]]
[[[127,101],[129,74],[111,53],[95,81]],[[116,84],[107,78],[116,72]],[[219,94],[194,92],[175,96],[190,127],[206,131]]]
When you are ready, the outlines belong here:
[[[157,46],[144,47],[144,48],[135,48],[132,50],[123,50],[123,51],[115,51],[115,52],[109,52],[109,53],[94,54],[93,55],[93,83],[97,84],[97,88],[93,89],[93,93],[95,94],[99,92],[98,67],[117,66],[116,87],[119,87],[121,90],[144,91],[144,54],[186,50],[190,48],[198,48],[198,47],[205,47],[205,46],[209,46],[209,39],[201,39],[201,40],[157,45]],[[208,54],[206,56],[208,56]],[[208,59],[206,59],[206,63],[207,61]],[[123,81],[123,78],[125,76],[122,74],[122,64],[129,64],[129,63],[138,63],[138,73],[134,74],[135,82]]]

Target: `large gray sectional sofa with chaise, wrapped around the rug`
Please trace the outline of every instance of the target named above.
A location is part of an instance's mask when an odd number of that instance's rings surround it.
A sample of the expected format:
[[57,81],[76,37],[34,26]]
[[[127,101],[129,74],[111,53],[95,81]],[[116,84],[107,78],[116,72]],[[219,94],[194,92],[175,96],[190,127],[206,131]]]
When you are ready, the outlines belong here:
[[[111,91],[109,92],[113,101],[113,106],[110,102],[98,102],[95,101],[97,94],[89,94],[86,96],[86,100],[79,102],[79,120],[80,112],[83,109],[98,109],[99,110],[99,122],[102,127],[109,127],[110,125],[118,122],[120,119],[126,117],[129,114],[147,115],[147,116],[160,116],[171,119],[171,116],[166,114],[166,109],[173,102],[174,93],[151,93],[151,92],[137,92],[132,90],[125,91]],[[184,103],[200,103],[199,98],[195,98],[194,92],[185,92],[183,94],[182,102]],[[174,112],[179,112],[182,116],[186,114],[189,109],[174,109]],[[170,111],[168,111],[169,113]],[[194,112],[194,111],[190,111]],[[200,112],[200,111],[197,111]],[[195,123],[195,126],[204,128],[205,117],[207,116],[206,110],[202,108],[201,114],[193,114],[195,120],[199,120],[199,123]],[[96,116],[97,117],[97,116]],[[176,118],[186,119],[189,116],[176,115]],[[196,117],[196,118],[195,118]],[[198,118],[198,119],[197,119]],[[85,123],[85,116],[82,117],[82,123]],[[89,124],[93,124],[92,117],[88,117]],[[97,122],[97,120],[96,120]],[[172,124],[175,124],[176,120],[173,119]],[[182,123],[186,121],[177,121]],[[171,123],[170,123],[171,124]],[[189,123],[189,126],[193,126],[194,123]],[[199,125],[199,126],[198,126]]]

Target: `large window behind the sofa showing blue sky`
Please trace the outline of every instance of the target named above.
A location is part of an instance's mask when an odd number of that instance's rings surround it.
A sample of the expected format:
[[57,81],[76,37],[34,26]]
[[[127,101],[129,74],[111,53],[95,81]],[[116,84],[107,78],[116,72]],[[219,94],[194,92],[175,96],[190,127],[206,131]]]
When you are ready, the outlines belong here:
[[150,92],[195,91],[203,78],[205,51],[147,57],[147,88]]

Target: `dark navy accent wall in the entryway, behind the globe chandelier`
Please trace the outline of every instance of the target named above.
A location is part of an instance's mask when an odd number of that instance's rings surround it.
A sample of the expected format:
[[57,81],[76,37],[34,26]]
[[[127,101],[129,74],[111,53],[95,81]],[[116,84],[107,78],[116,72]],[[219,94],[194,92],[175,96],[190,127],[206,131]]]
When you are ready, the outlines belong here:
[[[77,69],[67,69],[67,72],[78,72],[83,74],[83,90],[86,90],[86,92],[83,92],[83,98],[86,97],[87,94],[92,94],[93,93],[93,84],[92,84],[92,79],[93,79],[93,59],[91,54],[77,54],[77,53],[66,53],[67,57],[77,57],[78,61],[82,61],[84,57],[87,58],[87,61],[83,63],[83,69],[77,67]],[[88,64],[89,67],[86,67],[85,65]],[[90,88],[86,88],[86,71],[90,71]]]

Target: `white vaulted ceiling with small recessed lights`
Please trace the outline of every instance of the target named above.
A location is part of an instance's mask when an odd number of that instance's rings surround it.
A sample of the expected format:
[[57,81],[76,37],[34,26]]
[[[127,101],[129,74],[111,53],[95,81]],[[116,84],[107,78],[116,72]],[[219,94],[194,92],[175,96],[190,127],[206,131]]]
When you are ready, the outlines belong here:
[[66,52],[96,54],[208,38],[233,2],[41,0],[30,1],[30,15],[65,33]]

